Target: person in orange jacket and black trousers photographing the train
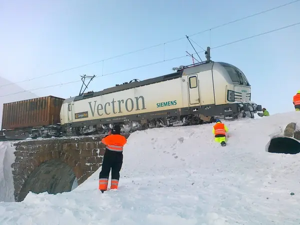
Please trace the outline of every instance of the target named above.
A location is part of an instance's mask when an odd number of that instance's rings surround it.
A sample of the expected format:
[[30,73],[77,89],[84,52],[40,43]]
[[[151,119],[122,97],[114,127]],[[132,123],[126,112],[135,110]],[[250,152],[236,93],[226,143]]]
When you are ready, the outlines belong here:
[[108,135],[102,138],[106,145],[102,161],[102,168],[99,173],[99,190],[103,193],[107,190],[108,177],[111,168],[110,189],[117,189],[120,178],[120,170],[123,163],[123,146],[127,142],[123,135],[120,135],[121,127],[114,125]]

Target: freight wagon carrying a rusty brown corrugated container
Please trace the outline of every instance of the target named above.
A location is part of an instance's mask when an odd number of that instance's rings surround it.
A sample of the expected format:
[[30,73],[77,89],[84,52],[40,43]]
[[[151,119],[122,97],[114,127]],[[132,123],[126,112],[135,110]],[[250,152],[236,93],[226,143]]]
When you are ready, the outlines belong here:
[[64,98],[45,96],[3,104],[2,130],[6,138],[59,135],[60,108]]

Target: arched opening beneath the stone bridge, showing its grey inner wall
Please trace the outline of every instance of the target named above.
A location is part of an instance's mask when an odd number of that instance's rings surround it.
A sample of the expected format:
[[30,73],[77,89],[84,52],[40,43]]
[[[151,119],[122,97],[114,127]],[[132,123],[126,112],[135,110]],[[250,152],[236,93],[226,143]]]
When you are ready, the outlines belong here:
[[17,201],[22,201],[29,191],[49,194],[68,192],[77,186],[77,179],[72,168],[59,159],[42,162],[24,182]]

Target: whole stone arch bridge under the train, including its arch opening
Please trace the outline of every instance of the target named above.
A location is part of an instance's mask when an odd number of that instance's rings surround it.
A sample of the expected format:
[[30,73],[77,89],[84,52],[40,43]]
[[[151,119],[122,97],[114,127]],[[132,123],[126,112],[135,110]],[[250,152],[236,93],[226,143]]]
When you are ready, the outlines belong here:
[[[129,134],[124,135],[128,138]],[[81,184],[102,164],[103,135],[24,140],[15,145],[12,163],[14,199],[22,201],[29,191],[61,193],[70,191],[74,181]]]

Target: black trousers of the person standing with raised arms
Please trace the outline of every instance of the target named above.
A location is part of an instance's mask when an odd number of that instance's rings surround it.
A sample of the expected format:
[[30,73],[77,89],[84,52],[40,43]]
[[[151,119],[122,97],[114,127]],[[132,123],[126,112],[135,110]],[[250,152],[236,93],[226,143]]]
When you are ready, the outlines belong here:
[[109,172],[111,169],[111,179],[119,180],[120,170],[123,163],[123,152],[112,151],[105,149],[105,153],[102,161],[102,168],[99,173],[99,179],[109,177]]

